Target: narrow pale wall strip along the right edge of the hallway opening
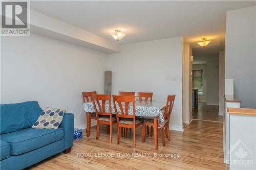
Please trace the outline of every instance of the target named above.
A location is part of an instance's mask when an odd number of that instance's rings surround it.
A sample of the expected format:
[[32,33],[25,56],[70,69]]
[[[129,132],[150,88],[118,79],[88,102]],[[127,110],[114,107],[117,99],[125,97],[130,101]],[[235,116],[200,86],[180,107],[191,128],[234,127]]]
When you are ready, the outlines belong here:
[[225,58],[224,51],[219,53],[219,115],[224,114],[224,86],[225,86]]

